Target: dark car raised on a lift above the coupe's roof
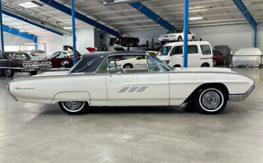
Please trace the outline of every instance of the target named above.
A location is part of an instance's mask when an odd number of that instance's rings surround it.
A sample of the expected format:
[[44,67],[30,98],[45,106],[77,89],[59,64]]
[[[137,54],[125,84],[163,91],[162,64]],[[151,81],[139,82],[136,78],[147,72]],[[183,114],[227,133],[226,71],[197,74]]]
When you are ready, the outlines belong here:
[[117,38],[109,38],[109,45],[122,45],[122,46],[127,46],[127,45],[132,45],[136,46],[140,42],[139,38],[134,38],[129,36],[129,34],[124,34],[122,36],[119,36]]

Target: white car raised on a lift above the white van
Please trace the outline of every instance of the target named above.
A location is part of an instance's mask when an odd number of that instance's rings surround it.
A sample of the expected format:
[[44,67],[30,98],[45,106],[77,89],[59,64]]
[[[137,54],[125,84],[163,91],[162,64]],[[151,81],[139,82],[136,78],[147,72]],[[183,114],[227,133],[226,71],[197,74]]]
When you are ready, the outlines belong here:
[[[171,30],[166,33],[166,35],[159,36],[161,44],[165,44],[166,42],[183,41],[183,39],[183,29]],[[188,30],[188,40],[196,40],[196,35],[191,30]]]

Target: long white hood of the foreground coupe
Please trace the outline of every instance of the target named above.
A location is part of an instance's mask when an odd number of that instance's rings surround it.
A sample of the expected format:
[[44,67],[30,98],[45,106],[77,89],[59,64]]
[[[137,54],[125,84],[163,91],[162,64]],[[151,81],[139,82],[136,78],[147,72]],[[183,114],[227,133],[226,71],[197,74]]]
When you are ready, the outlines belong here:
[[218,72],[218,73],[235,73],[229,68],[215,68],[215,67],[196,67],[196,68],[176,68],[173,72]]

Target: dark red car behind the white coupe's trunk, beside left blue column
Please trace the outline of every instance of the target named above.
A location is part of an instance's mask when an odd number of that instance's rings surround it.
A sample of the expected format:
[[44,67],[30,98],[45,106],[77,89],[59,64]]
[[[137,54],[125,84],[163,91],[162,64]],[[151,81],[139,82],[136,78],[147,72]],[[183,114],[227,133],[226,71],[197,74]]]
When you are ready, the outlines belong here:
[[[77,52],[77,57],[80,57],[80,53]],[[73,52],[61,51],[55,52],[53,55],[48,57],[48,61],[52,63],[53,68],[61,67],[61,63],[65,60],[73,58]]]

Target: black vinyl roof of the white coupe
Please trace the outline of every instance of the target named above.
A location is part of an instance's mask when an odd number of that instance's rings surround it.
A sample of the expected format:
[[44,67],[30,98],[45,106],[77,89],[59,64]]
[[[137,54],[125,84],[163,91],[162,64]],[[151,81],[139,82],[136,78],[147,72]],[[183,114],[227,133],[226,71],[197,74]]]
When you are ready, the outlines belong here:
[[118,55],[146,55],[145,51],[138,52],[94,52],[82,55],[82,59],[77,63],[71,72],[93,73],[100,63],[109,56]]

